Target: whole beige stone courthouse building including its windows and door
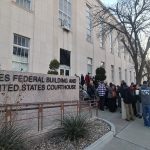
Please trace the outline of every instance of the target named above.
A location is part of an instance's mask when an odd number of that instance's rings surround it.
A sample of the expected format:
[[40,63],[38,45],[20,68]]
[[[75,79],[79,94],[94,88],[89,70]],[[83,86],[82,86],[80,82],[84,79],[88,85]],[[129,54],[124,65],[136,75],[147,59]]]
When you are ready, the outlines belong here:
[[0,69],[47,73],[52,59],[59,74],[106,69],[107,81],[134,82],[129,55],[110,33],[104,40],[92,28],[92,6],[99,0],[0,0]]

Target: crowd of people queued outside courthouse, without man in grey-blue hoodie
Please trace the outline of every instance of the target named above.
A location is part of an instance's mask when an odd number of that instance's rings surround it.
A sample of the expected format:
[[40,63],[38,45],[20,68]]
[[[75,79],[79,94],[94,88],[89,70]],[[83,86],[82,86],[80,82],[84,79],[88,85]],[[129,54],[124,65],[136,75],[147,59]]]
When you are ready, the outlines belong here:
[[97,84],[89,74],[85,77],[81,75],[80,84],[91,100],[95,97],[99,98],[100,110],[108,109],[110,112],[116,112],[119,109],[121,112],[121,107],[124,106],[127,121],[134,120],[135,117],[142,118],[141,85],[134,83],[127,85],[125,81],[122,81],[120,85],[113,83],[108,85],[103,81]]

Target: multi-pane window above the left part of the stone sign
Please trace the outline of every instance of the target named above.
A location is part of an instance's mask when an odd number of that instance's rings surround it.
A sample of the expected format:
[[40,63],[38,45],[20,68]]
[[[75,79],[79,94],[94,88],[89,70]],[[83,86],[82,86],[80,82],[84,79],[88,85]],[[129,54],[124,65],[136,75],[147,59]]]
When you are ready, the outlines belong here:
[[28,71],[30,39],[14,34],[12,66],[15,71]]

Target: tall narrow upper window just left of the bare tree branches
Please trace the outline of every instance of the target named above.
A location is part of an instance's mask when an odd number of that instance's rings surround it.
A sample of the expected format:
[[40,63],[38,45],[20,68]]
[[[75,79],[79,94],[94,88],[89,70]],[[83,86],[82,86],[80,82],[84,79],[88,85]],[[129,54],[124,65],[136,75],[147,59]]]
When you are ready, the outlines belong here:
[[91,7],[88,5],[86,5],[86,18],[87,18],[86,39],[88,42],[92,42],[92,13]]

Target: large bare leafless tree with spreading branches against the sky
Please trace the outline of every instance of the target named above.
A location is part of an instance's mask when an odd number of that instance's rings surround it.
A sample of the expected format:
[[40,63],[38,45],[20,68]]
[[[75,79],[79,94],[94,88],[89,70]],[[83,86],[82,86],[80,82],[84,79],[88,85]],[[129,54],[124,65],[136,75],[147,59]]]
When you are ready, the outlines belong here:
[[[102,24],[105,35],[116,31],[116,38],[120,38],[133,60],[136,82],[141,83],[150,48],[150,0],[119,0],[114,6],[101,6],[93,9],[94,27]],[[146,44],[143,37],[147,37]]]

